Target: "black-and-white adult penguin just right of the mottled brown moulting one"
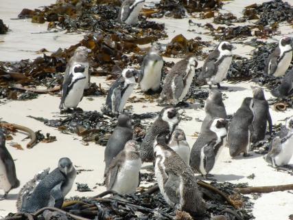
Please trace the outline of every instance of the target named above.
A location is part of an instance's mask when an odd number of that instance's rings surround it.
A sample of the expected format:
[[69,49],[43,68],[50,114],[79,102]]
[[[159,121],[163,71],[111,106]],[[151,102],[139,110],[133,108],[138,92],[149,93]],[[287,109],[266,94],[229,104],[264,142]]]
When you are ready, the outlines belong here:
[[227,76],[232,62],[232,55],[231,43],[227,41],[220,42],[204,61],[198,80],[206,80],[210,89],[212,85],[217,85],[218,89],[227,89],[226,87],[221,87],[220,83]]

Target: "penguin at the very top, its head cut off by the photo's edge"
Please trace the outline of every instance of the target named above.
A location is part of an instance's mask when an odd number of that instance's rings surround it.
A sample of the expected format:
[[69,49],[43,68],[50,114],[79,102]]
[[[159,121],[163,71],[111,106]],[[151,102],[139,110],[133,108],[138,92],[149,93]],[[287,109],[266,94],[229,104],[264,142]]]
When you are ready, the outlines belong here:
[[144,3],[145,0],[123,1],[118,14],[118,22],[136,25],[139,22],[139,12],[141,12]]

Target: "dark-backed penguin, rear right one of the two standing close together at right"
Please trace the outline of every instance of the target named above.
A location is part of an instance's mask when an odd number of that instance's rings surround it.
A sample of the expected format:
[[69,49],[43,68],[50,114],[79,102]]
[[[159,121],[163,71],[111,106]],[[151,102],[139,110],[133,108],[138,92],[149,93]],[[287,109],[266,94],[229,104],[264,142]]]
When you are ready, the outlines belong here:
[[263,89],[253,87],[253,133],[251,133],[251,142],[255,143],[263,140],[266,136],[266,126],[272,134],[272,118],[270,117],[270,109],[266,100]]

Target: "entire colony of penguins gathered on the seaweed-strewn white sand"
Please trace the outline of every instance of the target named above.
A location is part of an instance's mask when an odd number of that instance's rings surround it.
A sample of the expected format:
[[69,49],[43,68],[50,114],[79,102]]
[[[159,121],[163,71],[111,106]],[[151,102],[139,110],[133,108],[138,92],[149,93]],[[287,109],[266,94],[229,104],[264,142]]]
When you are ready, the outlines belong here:
[[[118,21],[134,25],[143,7],[144,0],[126,0],[122,3]],[[292,61],[291,39],[284,36],[278,47],[270,54],[264,69],[268,77],[282,77]],[[230,120],[227,119],[222,94],[217,89],[226,89],[220,83],[226,78],[232,61],[233,46],[223,41],[209,54],[198,80],[209,85],[209,98],[205,103],[206,117],[202,122],[200,135],[190,149],[185,132],[179,128],[180,116],[176,104],[182,102],[189,91],[198,66],[196,57],[189,55],[172,67],[167,74],[158,102],[169,105],[161,110],[158,118],[148,128],[141,146],[132,140],[130,116],[124,106],[137,85],[141,91],[158,92],[161,85],[163,58],[159,45],[152,45],[141,63],[141,69],[123,69],[121,76],[111,85],[103,113],[118,116],[114,129],[104,151],[104,179],[107,190],[131,194],[139,186],[139,172],[144,162],[154,164],[154,173],[165,201],[178,210],[185,210],[192,216],[207,210],[196,184],[194,173],[205,178],[217,162],[222,148],[228,146],[231,157],[243,153],[248,156],[250,142],[263,140],[268,129],[272,132],[272,119],[263,90],[253,88],[253,98],[247,97]],[[60,109],[76,109],[82,100],[84,89],[90,87],[89,60],[91,52],[78,47],[69,60],[62,85]],[[293,69],[283,78],[281,85],[272,90],[276,97],[292,94]],[[293,118],[272,140],[266,161],[273,167],[288,164],[293,154]],[[21,168],[18,168],[21,170]],[[20,171],[19,171],[20,172]],[[41,171],[21,188],[17,209],[21,212],[36,212],[45,206],[61,208],[63,199],[73,186],[76,170],[71,160],[61,158],[57,168]],[[0,188],[6,199],[10,190],[18,188],[14,160],[5,147],[5,136],[0,133]]]

